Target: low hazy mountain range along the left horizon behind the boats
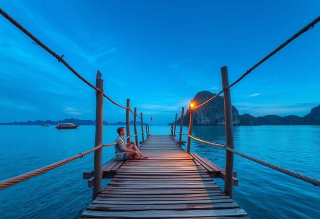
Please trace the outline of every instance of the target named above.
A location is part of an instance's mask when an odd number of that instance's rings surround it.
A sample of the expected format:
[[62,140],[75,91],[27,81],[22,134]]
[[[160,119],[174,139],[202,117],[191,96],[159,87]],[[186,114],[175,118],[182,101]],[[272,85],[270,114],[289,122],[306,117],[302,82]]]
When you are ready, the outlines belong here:
[[[28,121],[28,122],[5,122],[5,123],[0,123],[0,125],[42,125],[42,124],[49,124],[49,125],[57,125],[59,123],[75,123],[75,124],[80,124],[80,125],[95,125],[96,121],[95,120],[82,120],[82,119],[64,119],[64,120],[59,120],[59,121],[51,121],[51,120],[36,120],[36,121]],[[106,121],[103,121],[103,125],[126,125],[126,122],[115,122],[115,123],[109,123]],[[134,122],[130,121],[130,125],[133,125]],[[145,123],[143,123],[145,124]],[[137,121],[136,125],[141,125],[141,122]]]

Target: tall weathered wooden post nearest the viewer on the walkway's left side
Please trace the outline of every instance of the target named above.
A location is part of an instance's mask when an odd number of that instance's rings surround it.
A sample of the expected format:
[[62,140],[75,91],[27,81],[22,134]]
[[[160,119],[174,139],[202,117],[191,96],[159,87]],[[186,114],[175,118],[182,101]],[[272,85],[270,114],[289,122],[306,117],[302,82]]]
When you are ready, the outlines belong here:
[[[101,79],[101,73],[98,70],[96,87],[101,92],[96,91],[96,138],[95,147],[102,143],[102,128],[103,128],[103,80]],[[96,199],[101,192],[101,180],[102,180],[102,148],[95,151],[94,161],[94,189],[92,199]]]

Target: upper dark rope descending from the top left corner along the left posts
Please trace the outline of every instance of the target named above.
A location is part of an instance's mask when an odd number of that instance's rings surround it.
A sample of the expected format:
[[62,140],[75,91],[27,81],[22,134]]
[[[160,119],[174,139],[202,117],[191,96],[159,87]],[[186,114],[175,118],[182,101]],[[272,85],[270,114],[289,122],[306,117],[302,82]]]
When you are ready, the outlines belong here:
[[[26,30],[24,27],[22,27],[15,19],[13,19],[9,14],[7,14],[4,10],[2,10],[0,8],[0,13],[7,18],[13,25],[15,25],[17,28],[19,28],[22,32],[24,32],[27,36],[29,36],[33,41],[36,42],[37,45],[39,45],[40,47],[42,47],[45,51],[49,52],[51,55],[53,55],[56,59],[58,59],[59,62],[63,63],[65,65],[65,67],[67,67],[72,73],[74,73],[78,78],[80,78],[83,82],[85,82],[86,84],[88,84],[90,87],[92,87],[93,89],[95,89],[98,92],[102,92],[100,89],[98,89],[96,86],[94,86],[92,83],[90,83],[89,81],[87,81],[84,77],[82,77],[75,69],[73,69],[70,64],[68,64],[64,59],[63,56],[59,56],[57,53],[55,53],[54,51],[52,51],[49,47],[45,46],[39,39],[37,39],[33,34],[31,34],[28,30]],[[120,106],[122,108],[125,109],[129,109],[130,112],[133,115],[136,115],[132,112],[131,108],[122,106],[118,103],[116,103],[115,101],[113,101],[111,98],[109,98],[107,95],[103,94],[103,96],[105,98],[107,98],[110,102],[112,102],[113,104]],[[138,115],[137,115],[138,116]],[[139,116],[138,116],[139,117]],[[141,118],[141,117],[139,117]]]

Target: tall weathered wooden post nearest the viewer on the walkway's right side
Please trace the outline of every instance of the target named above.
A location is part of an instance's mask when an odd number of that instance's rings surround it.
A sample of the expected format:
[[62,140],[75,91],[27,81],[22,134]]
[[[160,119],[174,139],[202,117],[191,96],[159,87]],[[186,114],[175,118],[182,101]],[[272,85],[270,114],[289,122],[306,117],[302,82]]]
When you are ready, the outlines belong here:
[[[221,68],[223,99],[224,99],[224,122],[225,122],[225,141],[226,145],[234,148],[233,142],[233,124],[232,124],[232,104],[230,89],[225,89],[229,85],[228,69],[226,66]],[[225,180],[224,192],[232,198],[232,171],[233,171],[233,153],[226,150],[225,158]]]

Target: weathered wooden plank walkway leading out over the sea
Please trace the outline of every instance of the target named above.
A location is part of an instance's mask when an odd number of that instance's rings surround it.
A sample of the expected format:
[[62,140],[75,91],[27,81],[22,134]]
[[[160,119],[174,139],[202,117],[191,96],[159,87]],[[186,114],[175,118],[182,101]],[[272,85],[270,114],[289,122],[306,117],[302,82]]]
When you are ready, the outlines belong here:
[[150,157],[124,162],[82,218],[249,218],[170,136],[140,150]]

